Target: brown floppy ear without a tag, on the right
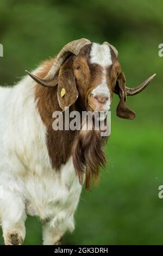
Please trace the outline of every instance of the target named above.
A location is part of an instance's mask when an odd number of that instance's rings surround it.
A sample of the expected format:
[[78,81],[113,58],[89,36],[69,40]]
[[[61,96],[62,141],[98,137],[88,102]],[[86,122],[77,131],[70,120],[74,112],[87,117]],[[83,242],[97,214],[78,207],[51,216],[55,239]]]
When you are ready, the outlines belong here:
[[120,102],[117,106],[117,116],[125,119],[134,119],[135,112],[126,106],[126,78],[123,72],[117,78],[115,93],[120,97]]

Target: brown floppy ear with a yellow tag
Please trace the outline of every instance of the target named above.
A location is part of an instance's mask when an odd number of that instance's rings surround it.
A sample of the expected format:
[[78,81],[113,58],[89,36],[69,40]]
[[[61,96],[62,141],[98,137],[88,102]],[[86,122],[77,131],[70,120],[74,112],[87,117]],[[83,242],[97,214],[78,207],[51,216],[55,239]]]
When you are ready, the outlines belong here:
[[69,58],[59,70],[57,90],[59,106],[63,110],[65,107],[70,107],[74,102],[76,102],[78,95],[76,80],[72,70],[72,60]]

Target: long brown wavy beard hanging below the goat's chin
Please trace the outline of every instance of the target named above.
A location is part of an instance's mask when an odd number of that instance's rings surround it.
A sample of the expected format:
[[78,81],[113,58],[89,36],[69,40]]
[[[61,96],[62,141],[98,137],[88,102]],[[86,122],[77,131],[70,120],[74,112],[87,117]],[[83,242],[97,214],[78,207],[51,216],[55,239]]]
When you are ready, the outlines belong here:
[[85,178],[85,188],[90,191],[92,181],[98,181],[99,168],[105,167],[106,158],[103,147],[107,137],[98,130],[80,130],[72,148],[74,168],[80,184]]

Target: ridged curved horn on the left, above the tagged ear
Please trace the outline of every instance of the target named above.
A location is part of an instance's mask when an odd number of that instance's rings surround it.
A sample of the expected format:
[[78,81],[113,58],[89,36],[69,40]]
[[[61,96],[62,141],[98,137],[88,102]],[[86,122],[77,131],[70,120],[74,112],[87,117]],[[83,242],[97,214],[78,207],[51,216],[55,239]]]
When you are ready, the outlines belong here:
[[54,64],[52,65],[52,68],[49,70],[45,78],[40,79],[27,71],[28,75],[32,77],[37,83],[41,84],[44,87],[56,86],[58,83],[58,79],[56,78],[55,75],[58,73],[60,66],[70,56],[71,53],[73,53],[74,55],[78,55],[81,48],[87,44],[91,44],[91,41],[85,38],[81,38],[81,39],[69,42],[67,45],[65,45],[62,48],[62,50],[58,53],[57,58],[54,60]]

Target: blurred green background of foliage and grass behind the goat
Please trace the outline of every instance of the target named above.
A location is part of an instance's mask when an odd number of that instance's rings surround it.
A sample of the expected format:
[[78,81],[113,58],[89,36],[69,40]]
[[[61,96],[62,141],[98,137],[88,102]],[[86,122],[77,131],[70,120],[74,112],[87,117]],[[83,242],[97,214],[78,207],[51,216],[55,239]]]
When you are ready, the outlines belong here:
[[[83,191],[76,230],[64,245],[163,244],[162,0],[1,0],[0,84],[14,84],[67,42],[87,38],[109,41],[119,52],[127,86],[135,87],[156,73],[141,94],[128,97],[135,120],[116,117],[111,107],[111,136],[105,148],[108,164],[92,192]],[[41,223],[29,217],[26,245],[40,245]],[[0,243],[3,244],[1,235]]]

